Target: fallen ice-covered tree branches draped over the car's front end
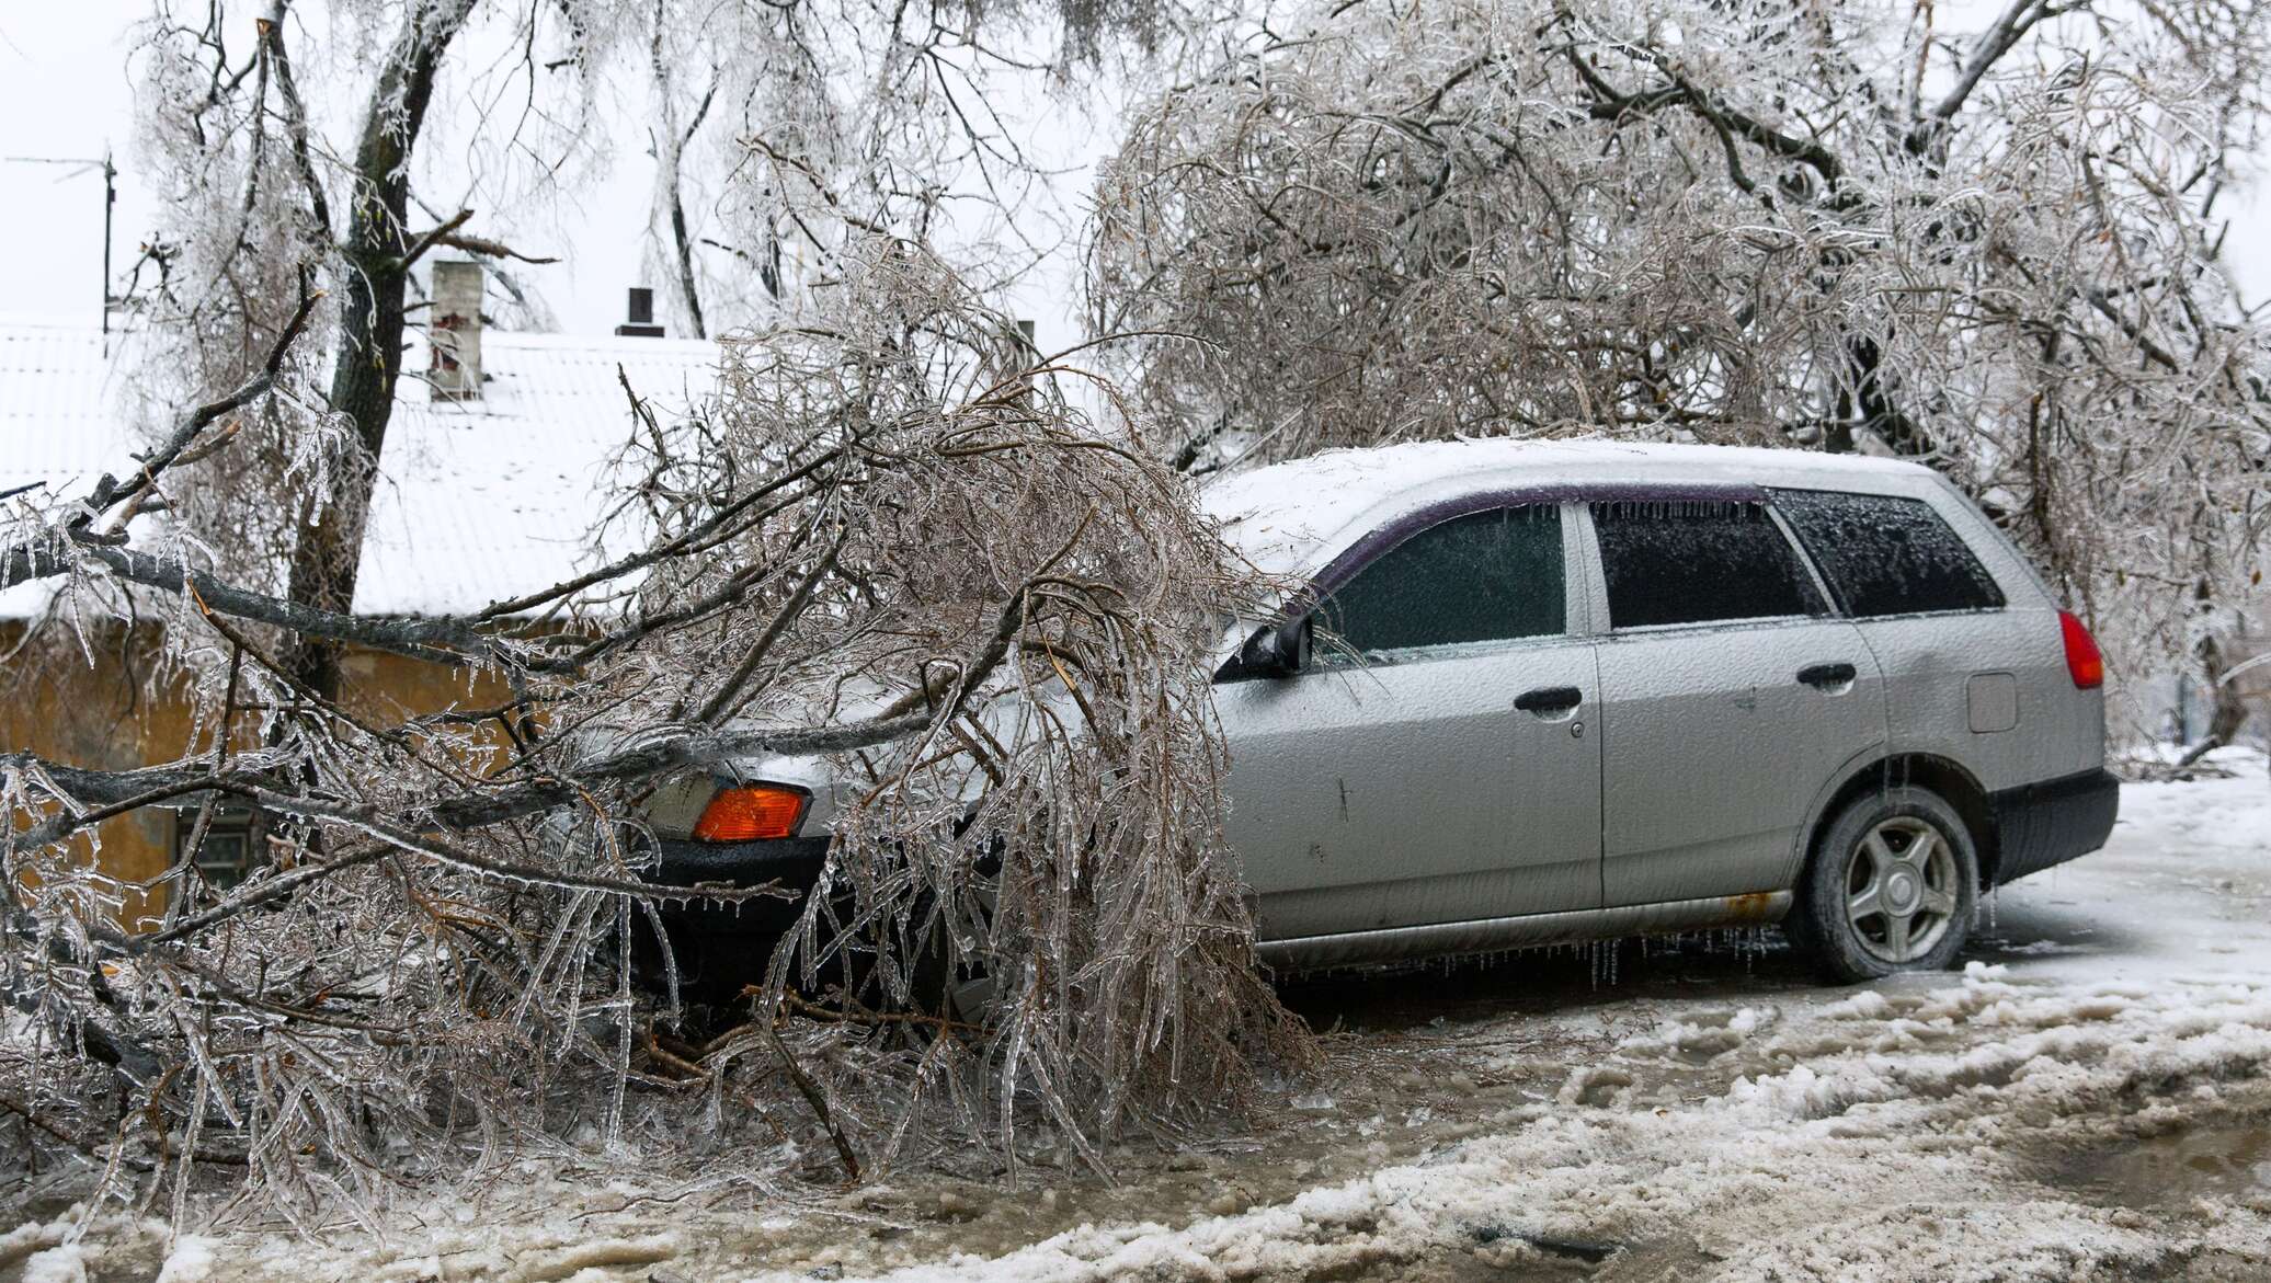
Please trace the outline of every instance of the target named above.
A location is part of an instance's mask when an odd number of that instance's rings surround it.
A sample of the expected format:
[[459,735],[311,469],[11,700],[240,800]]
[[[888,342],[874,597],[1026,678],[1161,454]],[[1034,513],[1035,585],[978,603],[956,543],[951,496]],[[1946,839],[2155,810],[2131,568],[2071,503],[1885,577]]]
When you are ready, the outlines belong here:
[[[1092,1156],[1301,1060],[1220,838],[1206,661],[1247,584],[1176,475],[1056,395],[1081,375],[1029,368],[936,259],[877,241],[831,297],[813,327],[736,343],[697,416],[629,402],[634,552],[472,615],[245,586],[148,515],[195,484],[184,463],[241,450],[232,425],[263,400],[309,395],[288,352],[313,297],[123,481],[16,500],[0,586],[170,602],[164,647],[202,702],[161,765],[0,756],[0,872],[23,888],[0,1106],[32,1120],[20,1144],[145,1188],[204,1163],[286,1210],[372,1208],[584,1133],[588,1160],[668,1135],[643,1156],[668,1169],[777,1165],[827,1135],[858,1174],[947,1135],[1015,1160],[1015,1120],[1045,1117]],[[370,722],[275,638],[518,695]],[[634,983],[634,938],[659,904],[772,890],[650,883],[640,802],[761,752],[836,754],[863,786],[772,983],[743,1024],[697,1031],[668,967],[659,997]],[[184,856],[157,879],[166,922],[114,926],[127,888],[75,838],[218,799],[279,817],[273,858],[216,892]],[[906,995],[940,949],[992,979],[992,1015],[863,1001]],[[827,992],[845,954],[861,974]]]

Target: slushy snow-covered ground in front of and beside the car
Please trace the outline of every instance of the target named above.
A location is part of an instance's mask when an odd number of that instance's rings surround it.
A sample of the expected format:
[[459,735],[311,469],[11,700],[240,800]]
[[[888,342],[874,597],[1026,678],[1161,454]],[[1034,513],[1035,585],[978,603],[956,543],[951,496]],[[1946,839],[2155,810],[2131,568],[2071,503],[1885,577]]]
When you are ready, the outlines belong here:
[[0,1281],[2271,1278],[2271,779],[2223,761],[2128,786],[1960,974],[1726,938],[1301,983],[1329,1072],[1113,1185],[570,1181],[379,1247],[57,1208]]

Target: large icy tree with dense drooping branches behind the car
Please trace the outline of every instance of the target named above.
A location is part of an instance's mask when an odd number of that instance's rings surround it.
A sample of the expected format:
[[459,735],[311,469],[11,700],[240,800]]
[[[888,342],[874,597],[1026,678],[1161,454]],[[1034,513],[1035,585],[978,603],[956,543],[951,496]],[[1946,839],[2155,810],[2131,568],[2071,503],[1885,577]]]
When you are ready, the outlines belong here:
[[[2255,5],[1274,14],[1099,184],[1185,468],[1451,434],[1878,450],[2192,656],[2260,570],[2271,345],[2219,263]],[[2205,613],[2203,613],[2205,611]]]

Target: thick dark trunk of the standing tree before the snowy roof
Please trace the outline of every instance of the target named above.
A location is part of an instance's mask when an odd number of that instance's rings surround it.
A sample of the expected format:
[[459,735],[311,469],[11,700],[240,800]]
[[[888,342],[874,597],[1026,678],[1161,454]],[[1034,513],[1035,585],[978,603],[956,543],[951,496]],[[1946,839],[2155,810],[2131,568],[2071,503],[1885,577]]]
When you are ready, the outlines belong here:
[[[409,159],[434,98],[443,54],[466,27],[472,5],[475,0],[413,2],[363,109],[354,193],[341,245],[345,266],[338,282],[338,363],[332,370],[332,409],[354,425],[357,456],[332,472],[329,490],[311,497],[300,513],[288,595],[304,606],[338,613],[354,609],[370,490],[377,484],[386,425],[395,413],[395,384],[402,377],[404,302],[411,277]],[[293,677],[309,688],[327,699],[338,697],[336,643],[300,634],[284,659]]]

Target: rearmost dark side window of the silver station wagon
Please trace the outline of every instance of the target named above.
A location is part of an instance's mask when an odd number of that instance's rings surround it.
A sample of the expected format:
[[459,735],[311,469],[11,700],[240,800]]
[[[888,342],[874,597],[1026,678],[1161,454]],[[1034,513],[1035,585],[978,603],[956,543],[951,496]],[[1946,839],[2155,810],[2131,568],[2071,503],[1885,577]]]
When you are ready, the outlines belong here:
[[2003,590],[1924,500],[1776,490],[1805,552],[1849,615],[1994,611]]

